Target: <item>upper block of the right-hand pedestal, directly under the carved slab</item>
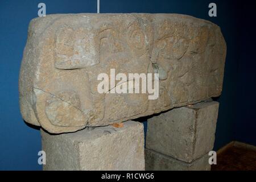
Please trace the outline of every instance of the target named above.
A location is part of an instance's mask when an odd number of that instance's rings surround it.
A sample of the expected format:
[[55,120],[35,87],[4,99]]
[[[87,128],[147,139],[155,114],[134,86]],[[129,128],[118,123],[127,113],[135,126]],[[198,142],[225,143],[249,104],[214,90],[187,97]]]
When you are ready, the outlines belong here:
[[200,158],[213,148],[218,105],[200,102],[148,119],[146,148],[188,163]]

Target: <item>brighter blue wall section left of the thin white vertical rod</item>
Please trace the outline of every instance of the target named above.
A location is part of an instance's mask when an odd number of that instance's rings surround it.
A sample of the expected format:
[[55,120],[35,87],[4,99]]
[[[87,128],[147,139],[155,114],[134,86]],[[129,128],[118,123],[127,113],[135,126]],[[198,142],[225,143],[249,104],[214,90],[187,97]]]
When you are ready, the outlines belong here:
[[95,13],[97,1],[0,1],[0,170],[41,170],[40,131],[28,127],[19,111],[18,77],[28,23],[38,16],[38,3],[47,14]]

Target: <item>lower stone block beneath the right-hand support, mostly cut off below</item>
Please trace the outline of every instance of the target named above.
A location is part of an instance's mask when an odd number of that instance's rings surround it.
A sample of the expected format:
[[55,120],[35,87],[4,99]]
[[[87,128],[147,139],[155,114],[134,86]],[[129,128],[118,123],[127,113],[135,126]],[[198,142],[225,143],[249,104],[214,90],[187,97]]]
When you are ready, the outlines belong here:
[[145,168],[147,171],[209,171],[209,155],[205,154],[191,163],[145,148]]

